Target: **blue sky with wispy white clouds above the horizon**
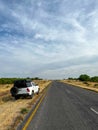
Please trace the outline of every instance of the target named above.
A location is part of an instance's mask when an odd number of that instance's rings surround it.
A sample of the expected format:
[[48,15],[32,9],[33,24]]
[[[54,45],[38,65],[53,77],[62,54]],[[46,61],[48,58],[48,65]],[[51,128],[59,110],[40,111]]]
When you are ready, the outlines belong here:
[[0,77],[98,76],[98,0],[0,0]]

